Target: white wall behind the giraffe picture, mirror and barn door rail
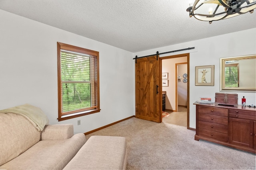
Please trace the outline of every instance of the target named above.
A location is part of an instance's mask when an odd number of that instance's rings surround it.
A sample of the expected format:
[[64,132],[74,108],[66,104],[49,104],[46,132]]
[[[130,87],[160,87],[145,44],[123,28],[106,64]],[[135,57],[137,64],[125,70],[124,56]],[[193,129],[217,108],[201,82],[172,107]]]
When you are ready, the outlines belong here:
[[[210,32],[210,31],[209,31]],[[170,41],[172,41],[170,39]],[[188,51],[169,53],[167,55],[177,55],[190,53],[190,127],[196,128],[196,106],[193,103],[201,96],[215,98],[215,92],[220,92],[220,58],[236,57],[241,55],[256,54],[256,28],[224,34],[220,36],[199,39],[186,43],[170,45],[158,49],[151,49],[135,53],[138,57],[144,55],[164,53],[178,49],[195,47]],[[195,86],[195,66],[214,65],[214,86]],[[247,104],[256,104],[256,93],[237,92],[238,104],[241,104],[242,96],[245,96]]]

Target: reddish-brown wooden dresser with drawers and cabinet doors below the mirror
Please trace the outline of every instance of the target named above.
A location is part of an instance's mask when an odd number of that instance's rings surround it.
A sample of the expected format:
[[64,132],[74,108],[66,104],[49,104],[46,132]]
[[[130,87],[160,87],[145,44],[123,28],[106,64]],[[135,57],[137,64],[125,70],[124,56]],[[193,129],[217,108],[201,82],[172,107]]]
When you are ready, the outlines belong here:
[[256,153],[256,108],[196,105],[196,135],[199,139]]

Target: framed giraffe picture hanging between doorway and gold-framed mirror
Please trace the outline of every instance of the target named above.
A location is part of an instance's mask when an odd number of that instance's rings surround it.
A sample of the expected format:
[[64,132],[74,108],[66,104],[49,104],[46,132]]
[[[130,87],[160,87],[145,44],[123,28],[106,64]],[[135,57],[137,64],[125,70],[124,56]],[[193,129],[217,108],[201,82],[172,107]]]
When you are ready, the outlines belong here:
[[214,86],[214,65],[196,66],[196,86]]

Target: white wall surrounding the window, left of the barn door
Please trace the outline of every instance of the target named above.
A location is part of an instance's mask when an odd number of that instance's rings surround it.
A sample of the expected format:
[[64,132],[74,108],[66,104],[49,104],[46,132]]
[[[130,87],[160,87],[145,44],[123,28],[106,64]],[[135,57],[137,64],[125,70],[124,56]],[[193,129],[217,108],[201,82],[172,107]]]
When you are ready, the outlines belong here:
[[[50,124],[74,124],[74,133],[134,115],[133,53],[3,10],[0,21],[0,109],[32,104]],[[57,41],[99,51],[99,113],[58,122]]]

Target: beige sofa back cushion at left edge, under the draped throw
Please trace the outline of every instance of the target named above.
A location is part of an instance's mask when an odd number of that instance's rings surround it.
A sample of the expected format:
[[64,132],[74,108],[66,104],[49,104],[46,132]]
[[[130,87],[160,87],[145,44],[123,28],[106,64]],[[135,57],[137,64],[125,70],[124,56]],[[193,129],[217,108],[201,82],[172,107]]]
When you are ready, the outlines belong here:
[[0,113],[0,166],[40,140],[40,131],[21,115]]

